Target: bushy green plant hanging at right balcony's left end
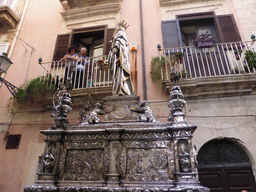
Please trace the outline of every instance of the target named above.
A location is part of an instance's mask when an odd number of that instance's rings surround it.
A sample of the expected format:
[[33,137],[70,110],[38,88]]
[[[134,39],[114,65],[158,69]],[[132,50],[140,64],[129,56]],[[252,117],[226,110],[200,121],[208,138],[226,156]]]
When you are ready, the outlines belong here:
[[160,81],[162,79],[161,70],[165,66],[164,57],[153,57],[150,65],[150,76],[153,82]]

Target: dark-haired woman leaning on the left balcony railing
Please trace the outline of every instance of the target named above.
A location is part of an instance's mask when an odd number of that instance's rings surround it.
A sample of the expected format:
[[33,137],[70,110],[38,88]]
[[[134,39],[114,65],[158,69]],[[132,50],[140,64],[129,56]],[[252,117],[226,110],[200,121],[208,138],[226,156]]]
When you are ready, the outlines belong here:
[[71,77],[71,74],[72,74],[73,69],[75,67],[75,60],[77,60],[78,58],[79,58],[79,56],[78,56],[77,48],[74,47],[74,46],[68,47],[68,54],[66,54],[60,60],[60,61],[65,61],[65,66],[66,66],[65,74],[64,74],[64,83],[67,81],[68,77],[70,77],[72,79],[72,82],[73,82],[73,78]]

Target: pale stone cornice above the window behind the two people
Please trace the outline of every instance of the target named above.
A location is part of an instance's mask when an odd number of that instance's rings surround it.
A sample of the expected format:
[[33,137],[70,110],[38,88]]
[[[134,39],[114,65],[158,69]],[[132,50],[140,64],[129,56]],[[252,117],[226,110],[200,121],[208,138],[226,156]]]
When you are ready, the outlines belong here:
[[64,11],[61,13],[65,21],[73,19],[81,19],[97,15],[106,15],[109,13],[117,13],[120,10],[120,3],[109,3],[105,5],[96,5]]

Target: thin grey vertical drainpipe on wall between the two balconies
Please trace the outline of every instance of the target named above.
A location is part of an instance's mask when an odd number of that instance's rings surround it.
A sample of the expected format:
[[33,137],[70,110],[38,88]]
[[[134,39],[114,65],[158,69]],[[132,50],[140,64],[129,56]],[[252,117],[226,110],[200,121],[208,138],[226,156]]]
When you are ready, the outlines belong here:
[[142,0],[140,1],[140,35],[141,35],[141,53],[142,53],[142,77],[143,77],[143,99],[147,100],[147,82],[145,71],[145,51],[144,51],[144,34],[143,34],[143,16],[142,16]]

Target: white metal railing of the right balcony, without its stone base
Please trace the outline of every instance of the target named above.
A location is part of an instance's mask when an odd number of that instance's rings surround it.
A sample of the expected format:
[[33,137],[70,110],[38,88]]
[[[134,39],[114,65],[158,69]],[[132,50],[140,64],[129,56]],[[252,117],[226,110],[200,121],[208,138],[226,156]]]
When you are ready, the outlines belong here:
[[248,60],[249,52],[256,58],[254,46],[248,41],[216,43],[210,48],[190,46],[162,50],[159,52],[159,57],[165,58],[162,80],[171,80],[173,70],[180,79],[255,73],[256,63]]

